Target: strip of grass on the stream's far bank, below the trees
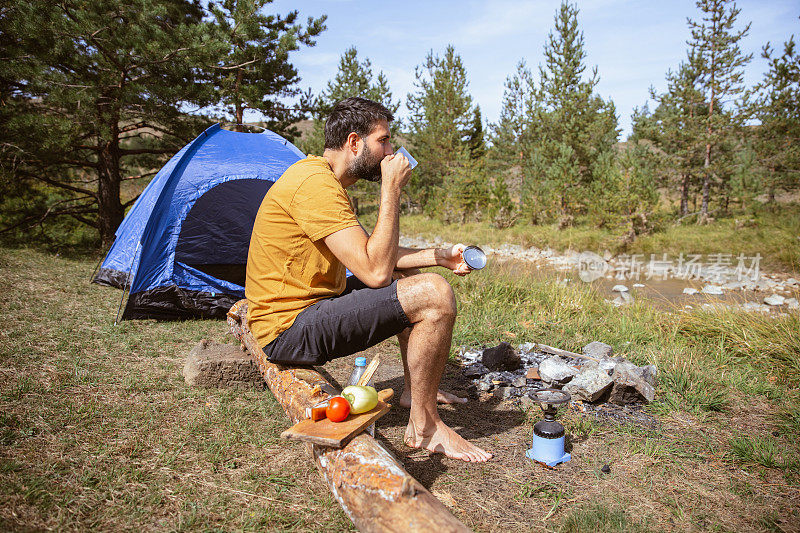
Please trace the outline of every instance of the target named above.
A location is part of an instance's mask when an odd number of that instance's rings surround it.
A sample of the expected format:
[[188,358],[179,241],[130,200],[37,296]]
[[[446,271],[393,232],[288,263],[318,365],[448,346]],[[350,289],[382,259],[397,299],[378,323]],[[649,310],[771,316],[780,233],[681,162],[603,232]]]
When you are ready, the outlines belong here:
[[[374,225],[376,213],[362,218],[365,226]],[[744,227],[741,220],[752,220]],[[467,242],[497,246],[504,243],[524,247],[551,248],[556,251],[575,250],[612,253],[668,254],[677,258],[683,254],[732,254],[733,264],[742,253],[747,257],[760,254],[762,268],[798,272],[800,270],[800,204],[781,205],[771,211],[760,207],[749,213],[736,213],[717,218],[713,223],[680,224],[669,222],[648,235],[638,237],[633,244],[622,247],[619,231],[597,228],[590,221],[577,219],[575,226],[558,229],[556,224],[532,225],[521,221],[511,228],[497,229],[488,222],[442,224],[423,215],[404,215],[400,219],[403,235],[419,235],[433,240]],[[749,263],[748,263],[749,265]]]

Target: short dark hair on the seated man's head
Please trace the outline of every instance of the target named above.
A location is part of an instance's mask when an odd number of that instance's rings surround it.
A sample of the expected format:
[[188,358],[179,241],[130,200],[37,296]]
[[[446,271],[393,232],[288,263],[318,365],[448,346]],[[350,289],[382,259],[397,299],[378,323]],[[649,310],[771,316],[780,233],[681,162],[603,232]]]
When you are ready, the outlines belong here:
[[392,112],[378,102],[358,96],[340,100],[325,122],[325,148],[340,150],[351,132],[363,139],[379,121],[391,122],[393,118]]

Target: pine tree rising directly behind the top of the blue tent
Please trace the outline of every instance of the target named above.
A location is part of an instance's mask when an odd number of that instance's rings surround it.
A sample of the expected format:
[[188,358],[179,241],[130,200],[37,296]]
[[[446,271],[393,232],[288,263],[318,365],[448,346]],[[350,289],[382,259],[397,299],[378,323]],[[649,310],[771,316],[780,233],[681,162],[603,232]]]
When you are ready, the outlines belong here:
[[245,111],[264,117],[268,129],[292,139],[293,125],[303,112],[286,107],[287,98],[300,94],[300,77],[289,62],[289,53],[300,45],[314,46],[314,37],[325,30],[326,16],[297,22],[298,11],[286,16],[267,15],[272,0],[221,0],[211,2],[219,37],[226,43],[224,56],[214,69],[221,111],[233,117],[237,131],[244,131]]

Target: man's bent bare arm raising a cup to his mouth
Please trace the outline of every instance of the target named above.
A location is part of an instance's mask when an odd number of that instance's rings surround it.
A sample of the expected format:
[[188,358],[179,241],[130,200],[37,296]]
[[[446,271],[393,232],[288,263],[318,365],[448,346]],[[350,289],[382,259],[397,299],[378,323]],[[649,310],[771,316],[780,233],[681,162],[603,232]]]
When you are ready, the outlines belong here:
[[381,177],[381,203],[372,235],[352,226],[323,239],[350,272],[373,288],[389,285],[397,265],[400,191],[411,177],[408,160],[402,155],[387,156],[381,162]]

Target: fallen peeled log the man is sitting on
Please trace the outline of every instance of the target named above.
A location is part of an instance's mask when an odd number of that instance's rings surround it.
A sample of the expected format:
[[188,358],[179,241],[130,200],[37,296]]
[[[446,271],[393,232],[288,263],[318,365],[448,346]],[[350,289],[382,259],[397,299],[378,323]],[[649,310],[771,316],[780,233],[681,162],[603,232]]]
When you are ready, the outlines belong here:
[[[267,361],[247,327],[247,301],[240,300],[228,312],[231,333],[253,359],[283,410],[296,423],[331,385],[309,368],[276,365]],[[405,471],[383,445],[367,433],[344,448],[307,443],[333,495],[363,532],[470,531],[425,487]]]

